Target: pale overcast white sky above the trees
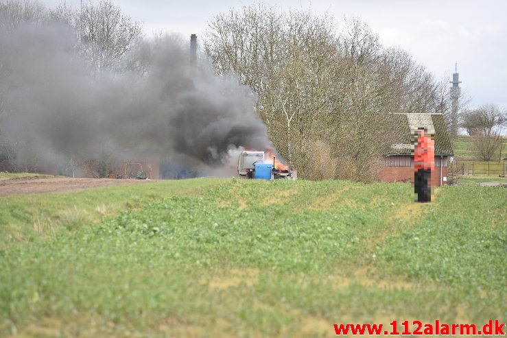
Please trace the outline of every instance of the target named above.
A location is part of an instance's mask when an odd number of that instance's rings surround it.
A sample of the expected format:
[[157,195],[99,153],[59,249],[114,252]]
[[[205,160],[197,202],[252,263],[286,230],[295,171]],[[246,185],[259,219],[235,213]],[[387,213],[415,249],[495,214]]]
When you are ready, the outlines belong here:
[[[49,6],[60,0],[41,0]],[[205,0],[113,0],[141,21],[145,33],[178,32],[202,36],[213,16],[254,3]],[[258,1],[257,1],[258,2]],[[451,80],[454,64],[469,106],[507,107],[507,1],[504,0],[299,0],[264,1],[281,10],[328,12],[336,23],[358,17],[377,32],[385,46],[397,45],[438,79]],[[80,0],[67,0],[78,8]],[[449,84],[450,85],[450,84]]]

